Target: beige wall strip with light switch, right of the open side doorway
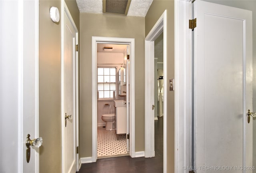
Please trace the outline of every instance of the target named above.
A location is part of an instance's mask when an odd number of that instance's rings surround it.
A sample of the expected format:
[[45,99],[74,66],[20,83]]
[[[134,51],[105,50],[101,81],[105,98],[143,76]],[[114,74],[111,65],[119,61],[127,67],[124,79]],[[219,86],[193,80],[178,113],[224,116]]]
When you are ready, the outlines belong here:
[[[154,0],[145,18],[145,36],[150,32],[156,21],[167,10],[167,76],[174,78],[174,1]],[[169,86],[164,86],[168,88]],[[167,172],[174,172],[174,91],[167,89]]]

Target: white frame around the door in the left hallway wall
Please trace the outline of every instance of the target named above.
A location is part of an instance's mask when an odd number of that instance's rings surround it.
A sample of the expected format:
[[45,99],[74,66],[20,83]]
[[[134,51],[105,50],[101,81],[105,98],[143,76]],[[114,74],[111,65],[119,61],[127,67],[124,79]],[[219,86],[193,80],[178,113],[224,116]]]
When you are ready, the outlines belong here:
[[[65,119],[64,119],[64,115],[65,115],[65,100],[64,100],[64,41],[65,41],[65,13],[67,14],[72,26],[74,27],[74,30],[76,31],[76,39],[75,39],[75,44],[78,45],[78,29],[76,27],[76,24],[72,18],[72,15],[70,14],[68,7],[66,5],[66,3],[64,2],[64,0],[61,1],[61,134],[62,134],[62,172],[64,171],[64,167],[65,167],[65,157],[64,157],[64,153],[65,153],[65,137],[64,137],[64,124],[65,124]],[[75,62],[74,62],[74,85],[75,85],[75,99],[74,99],[74,103],[75,103],[75,115],[74,115],[74,119],[76,123],[76,129],[75,129],[75,133],[76,133],[76,145],[79,145],[79,120],[78,120],[78,113],[79,113],[79,102],[78,102],[78,52],[75,51]],[[79,171],[79,154],[76,155],[76,170]]]

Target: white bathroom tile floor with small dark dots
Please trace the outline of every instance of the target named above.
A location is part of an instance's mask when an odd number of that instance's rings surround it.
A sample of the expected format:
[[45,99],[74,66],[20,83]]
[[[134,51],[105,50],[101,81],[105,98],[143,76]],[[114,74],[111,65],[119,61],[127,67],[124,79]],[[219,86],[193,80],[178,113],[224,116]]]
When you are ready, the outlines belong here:
[[103,126],[99,126],[97,142],[98,157],[127,153],[126,135],[116,135],[116,130],[105,130]]

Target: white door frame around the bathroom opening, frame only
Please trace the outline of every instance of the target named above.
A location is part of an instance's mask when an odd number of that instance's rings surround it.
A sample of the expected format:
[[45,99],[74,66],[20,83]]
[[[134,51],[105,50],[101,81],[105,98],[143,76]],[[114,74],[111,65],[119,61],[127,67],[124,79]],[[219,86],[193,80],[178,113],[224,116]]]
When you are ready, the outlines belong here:
[[135,157],[135,39],[92,36],[92,162],[97,160],[97,43],[130,44],[130,156]]

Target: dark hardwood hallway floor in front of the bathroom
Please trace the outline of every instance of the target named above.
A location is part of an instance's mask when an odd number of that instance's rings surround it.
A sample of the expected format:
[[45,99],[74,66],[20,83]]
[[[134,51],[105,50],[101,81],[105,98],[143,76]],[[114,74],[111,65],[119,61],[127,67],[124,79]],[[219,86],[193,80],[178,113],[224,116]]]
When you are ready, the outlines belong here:
[[78,173],[162,173],[163,172],[163,117],[155,120],[155,157],[130,156],[97,159],[82,164]]

